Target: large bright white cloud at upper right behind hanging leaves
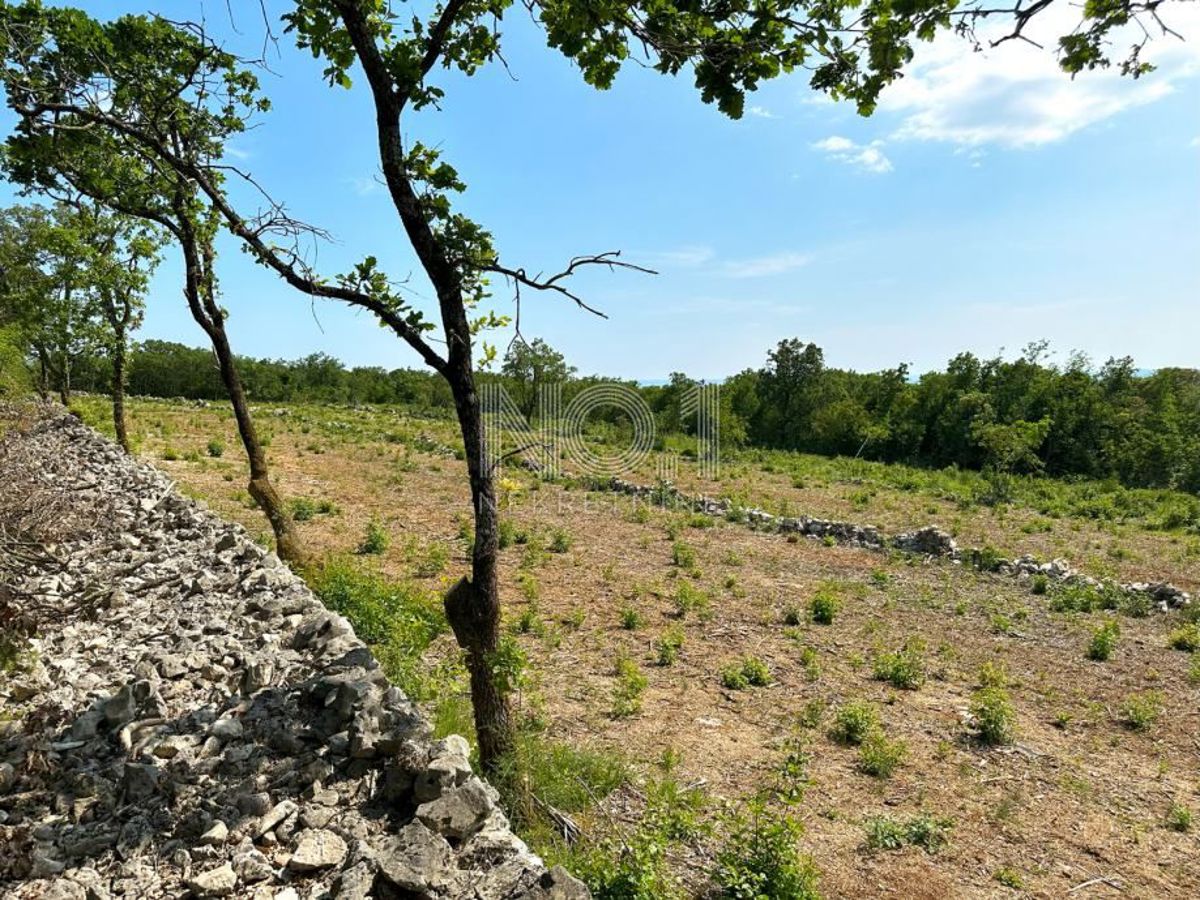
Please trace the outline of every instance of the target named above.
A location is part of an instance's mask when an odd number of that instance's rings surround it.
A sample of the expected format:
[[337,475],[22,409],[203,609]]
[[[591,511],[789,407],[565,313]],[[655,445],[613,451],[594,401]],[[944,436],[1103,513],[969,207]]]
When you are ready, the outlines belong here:
[[[1176,6],[1164,16],[1182,34],[1200,30],[1195,8]],[[881,112],[902,116],[893,138],[1038,146],[1153,103],[1171,94],[1176,82],[1200,72],[1200,43],[1156,35],[1142,59],[1157,65],[1157,71],[1134,80],[1114,67],[1073,79],[1058,67],[1052,48],[1078,17],[1078,7],[1055,5],[1032,19],[1026,32],[1043,48],[1009,41],[976,52],[949,32],[919,47],[906,76],[881,98]],[[984,47],[998,34],[995,28],[980,29]],[[1132,36],[1126,41],[1116,35],[1111,50],[1120,54],[1134,42]]]

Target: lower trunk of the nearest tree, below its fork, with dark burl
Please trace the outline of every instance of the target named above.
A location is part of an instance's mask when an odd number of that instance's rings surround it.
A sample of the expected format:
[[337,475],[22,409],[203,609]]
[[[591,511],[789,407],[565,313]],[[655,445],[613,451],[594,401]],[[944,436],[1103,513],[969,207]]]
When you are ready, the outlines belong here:
[[467,472],[475,518],[475,546],[470,582],[460,582],[446,594],[445,610],[458,646],[467,654],[470,672],[470,702],[475,713],[479,758],[487,774],[496,774],[512,752],[514,722],[508,695],[494,671],[494,654],[500,646],[499,516],[491,464],[484,452],[482,416],[470,371],[469,355],[449,373],[455,409],[467,451]]

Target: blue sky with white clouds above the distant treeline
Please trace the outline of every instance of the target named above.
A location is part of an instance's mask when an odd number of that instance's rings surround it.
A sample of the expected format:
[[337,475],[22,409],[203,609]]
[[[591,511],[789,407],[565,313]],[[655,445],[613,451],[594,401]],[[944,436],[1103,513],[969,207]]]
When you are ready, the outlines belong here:
[[[263,49],[248,0],[72,5],[203,17],[230,49]],[[1072,7],[1056,6],[1034,37],[1069,30]],[[287,4],[268,8],[277,17]],[[635,65],[595,91],[517,5],[503,28],[508,71],[442,73],[442,110],[406,114],[407,127],[457,168],[468,185],[460,208],[491,230],[506,265],[557,271],[575,254],[620,250],[659,272],[578,278],[607,319],[526,295],[522,332],[581,372],[720,378],[761,366],[793,336],[821,344],[830,365],[864,371],[901,361],[926,371],[960,350],[1013,355],[1040,338],[1097,362],[1198,366],[1200,10],[1163,10],[1192,40],[1156,38],[1144,56],[1158,71],[1136,82],[1073,80],[1049,50],[1009,42],[974,53],[944,36],[869,119],[799,73],[764,85],[731,121],[689,78]],[[334,235],[319,270],[374,254],[436,318],[380,184],[361,79],[329,88],[322,65],[282,34],[266,59],[274,108],[230,161]],[[0,118],[5,132],[10,124]],[[7,186],[0,194],[11,202]],[[368,316],[312,304],[229,241],[221,251],[239,353],[419,366]],[[140,337],[203,343],[181,278],[168,250]],[[503,283],[493,306],[511,313]],[[490,340],[503,350],[509,337]]]

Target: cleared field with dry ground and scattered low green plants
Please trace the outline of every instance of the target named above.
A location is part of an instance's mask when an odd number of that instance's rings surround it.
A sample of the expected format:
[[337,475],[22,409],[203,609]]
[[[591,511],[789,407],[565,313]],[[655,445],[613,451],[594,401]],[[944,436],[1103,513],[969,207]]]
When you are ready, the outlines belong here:
[[[102,400],[78,408],[106,426]],[[206,452],[232,443],[221,406],[130,413],[143,456],[270,542],[235,455]],[[470,736],[442,608],[473,539],[452,422],[395,407],[256,414],[314,551],[310,583],[439,733]],[[520,737],[497,780],[547,859],[600,898],[914,880],[928,895],[1058,894],[1093,877],[1196,889],[1195,607],[989,571],[990,554],[1031,552],[1194,590],[1200,536],[1156,512],[1189,497],[1024,476],[984,502],[979,473],[761,450],[733,452],[718,480],[684,463],[679,480],[888,530],[940,522],[992,550],[952,565],[790,542],[737,515],[701,521],[508,467],[492,662]]]

